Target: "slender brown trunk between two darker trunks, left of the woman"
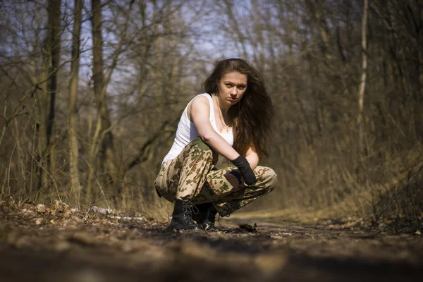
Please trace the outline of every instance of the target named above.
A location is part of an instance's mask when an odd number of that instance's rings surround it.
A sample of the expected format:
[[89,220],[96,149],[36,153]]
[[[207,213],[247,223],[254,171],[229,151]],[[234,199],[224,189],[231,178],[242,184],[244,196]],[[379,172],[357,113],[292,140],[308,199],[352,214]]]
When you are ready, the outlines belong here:
[[78,82],[80,66],[80,33],[82,22],[82,0],[75,0],[75,20],[73,22],[72,38],[72,66],[71,80],[69,81],[69,109],[68,128],[69,130],[69,173],[71,176],[71,202],[79,204],[79,145],[78,145],[78,112],[76,103],[78,101]]

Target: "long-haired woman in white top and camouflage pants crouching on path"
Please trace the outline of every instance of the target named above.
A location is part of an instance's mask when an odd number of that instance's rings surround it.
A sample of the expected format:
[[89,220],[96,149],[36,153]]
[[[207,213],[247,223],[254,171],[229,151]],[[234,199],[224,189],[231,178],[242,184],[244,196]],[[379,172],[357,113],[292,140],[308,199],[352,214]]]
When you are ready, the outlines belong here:
[[[267,157],[271,99],[259,73],[242,59],[219,61],[183,111],[176,137],[155,181],[160,197],[175,203],[171,230],[214,227],[274,189],[276,173],[257,166]],[[233,166],[215,167],[218,155]]]

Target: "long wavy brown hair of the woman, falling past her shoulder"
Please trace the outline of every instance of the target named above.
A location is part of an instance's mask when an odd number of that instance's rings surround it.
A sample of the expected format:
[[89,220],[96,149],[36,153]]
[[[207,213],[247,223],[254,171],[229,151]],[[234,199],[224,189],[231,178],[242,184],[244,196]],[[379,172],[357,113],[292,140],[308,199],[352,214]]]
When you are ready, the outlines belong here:
[[218,61],[203,84],[204,91],[209,94],[218,93],[219,81],[223,75],[233,72],[247,75],[247,90],[243,98],[231,106],[228,112],[233,119],[233,148],[238,154],[245,156],[252,147],[259,158],[269,157],[274,108],[259,72],[243,59]]

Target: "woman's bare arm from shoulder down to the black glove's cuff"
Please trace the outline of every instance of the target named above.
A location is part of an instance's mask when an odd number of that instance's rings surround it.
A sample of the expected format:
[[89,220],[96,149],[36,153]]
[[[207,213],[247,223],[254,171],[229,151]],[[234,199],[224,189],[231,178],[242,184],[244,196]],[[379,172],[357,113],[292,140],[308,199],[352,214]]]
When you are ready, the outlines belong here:
[[210,123],[210,104],[207,97],[200,96],[192,100],[188,117],[197,128],[200,138],[212,147],[214,151],[230,161],[239,157],[240,154],[212,127]]

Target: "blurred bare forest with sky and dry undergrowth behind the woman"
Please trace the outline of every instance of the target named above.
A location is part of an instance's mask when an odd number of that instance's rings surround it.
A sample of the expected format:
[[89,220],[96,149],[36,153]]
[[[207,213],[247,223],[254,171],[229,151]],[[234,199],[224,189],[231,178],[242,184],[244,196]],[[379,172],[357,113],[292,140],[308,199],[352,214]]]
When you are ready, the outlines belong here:
[[423,212],[423,1],[0,1],[0,201],[166,219],[154,178],[214,61],[250,61],[287,208]]

